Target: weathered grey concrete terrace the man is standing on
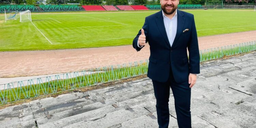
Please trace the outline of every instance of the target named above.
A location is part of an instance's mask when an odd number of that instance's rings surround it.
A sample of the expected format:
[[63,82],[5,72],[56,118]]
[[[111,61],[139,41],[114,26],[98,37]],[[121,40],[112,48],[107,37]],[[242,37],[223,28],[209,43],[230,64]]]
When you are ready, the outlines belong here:
[[[201,64],[191,89],[193,128],[256,127],[256,52]],[[149,78],[0,110],[1,128],[156,128]],[[170,90],[170,128],[178,128]]]

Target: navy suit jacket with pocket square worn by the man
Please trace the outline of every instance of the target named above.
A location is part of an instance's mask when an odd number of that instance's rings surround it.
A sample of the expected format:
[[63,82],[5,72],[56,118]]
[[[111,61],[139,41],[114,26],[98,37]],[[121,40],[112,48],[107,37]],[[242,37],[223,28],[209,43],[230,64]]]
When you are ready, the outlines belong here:
[[[147,16],[142,27],[146,42],[150,45],[150,57],[147,76],[158,82],[166,82],[172,69],[177,83],[188,81],[189,73],[200,73],[200,57],[194,15],[177,9],[177,32],[172,46],[169,43],[162,10]],[[186,32],[183,30],[189,29]],[[141,30],[133,40],[133,47],[137,46]],[[187,55],[189,51],[189,59]]]

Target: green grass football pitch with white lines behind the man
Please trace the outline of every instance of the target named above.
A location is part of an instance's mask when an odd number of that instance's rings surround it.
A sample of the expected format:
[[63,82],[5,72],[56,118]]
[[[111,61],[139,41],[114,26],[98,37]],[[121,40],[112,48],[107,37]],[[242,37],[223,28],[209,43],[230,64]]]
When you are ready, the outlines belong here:
[[[256,30],[256,12],[253,10],[186,12],[195,15],[199,37]],[[129,45],[143,26],[145,17],[154,13],[32,14],[32,23],[20,23],[19,19],[5,23],[4,15],[0,15],[0,51]]]

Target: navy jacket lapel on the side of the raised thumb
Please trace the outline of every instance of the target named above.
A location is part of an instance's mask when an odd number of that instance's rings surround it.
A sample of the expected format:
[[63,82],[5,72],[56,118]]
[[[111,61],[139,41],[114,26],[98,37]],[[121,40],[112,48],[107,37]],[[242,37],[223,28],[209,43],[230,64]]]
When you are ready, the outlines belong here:
[[170,42],[167,37],[166,30],[165,30],[165,24],[163,23],[162,10],[158,13],[159,14],[157,15],[157,18],[156,18],[157,27],[158,27],[159,31],[161,32],[163,39],[165,39],[165,42],[167,43],[167,45],[171,47]]

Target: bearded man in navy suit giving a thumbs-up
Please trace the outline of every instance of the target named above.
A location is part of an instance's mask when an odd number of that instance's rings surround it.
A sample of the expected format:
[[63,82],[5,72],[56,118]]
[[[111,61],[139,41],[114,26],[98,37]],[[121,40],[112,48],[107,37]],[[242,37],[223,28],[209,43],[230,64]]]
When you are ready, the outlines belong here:
[[169,125],[170,87],[179,128],[191,128],[191,87],[200,73],[194,15],[178,10],[179,0],[160,3],[162,10],[145,18],[133,47],[140,51],[147,42],[150,45],[147,76],[153,82],[159,128]]

